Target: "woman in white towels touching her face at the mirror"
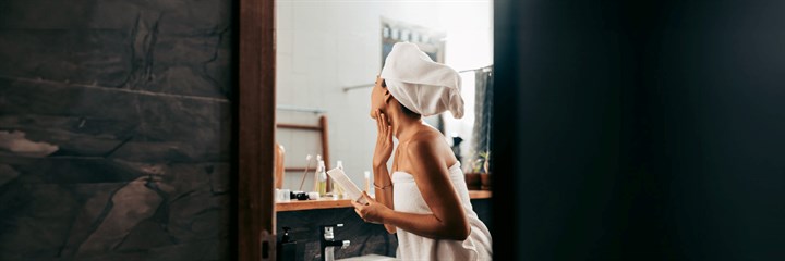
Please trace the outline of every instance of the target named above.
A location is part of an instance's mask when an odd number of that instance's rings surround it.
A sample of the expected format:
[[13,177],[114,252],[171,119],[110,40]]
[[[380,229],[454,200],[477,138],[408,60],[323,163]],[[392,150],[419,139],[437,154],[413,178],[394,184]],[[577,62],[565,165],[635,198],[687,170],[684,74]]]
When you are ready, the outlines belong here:
[[[408,42],[397,44],[371,94],[378,138],[373,157],[376,198],[353,202],[365,222],[398,236],[402,260],[490,260],[491,234],[469,200],[452,150],[422,116],[463,114],[460,76]],[[398,139],[391,171],[392,136]],[[391,174],[390,174],[391,173]]]

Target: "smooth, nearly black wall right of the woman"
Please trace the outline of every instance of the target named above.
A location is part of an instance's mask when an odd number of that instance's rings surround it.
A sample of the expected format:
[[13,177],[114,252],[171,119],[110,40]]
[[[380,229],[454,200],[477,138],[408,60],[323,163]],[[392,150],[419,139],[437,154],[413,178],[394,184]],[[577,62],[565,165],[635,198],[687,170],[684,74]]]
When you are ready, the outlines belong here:
[[496,0],[510,260],[785,260],[785,2]]

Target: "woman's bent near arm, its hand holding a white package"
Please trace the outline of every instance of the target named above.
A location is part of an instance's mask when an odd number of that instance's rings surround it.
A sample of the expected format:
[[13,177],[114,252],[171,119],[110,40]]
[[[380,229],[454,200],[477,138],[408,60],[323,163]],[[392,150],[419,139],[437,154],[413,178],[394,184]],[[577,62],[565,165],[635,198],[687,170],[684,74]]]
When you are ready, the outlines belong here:
[[408,147],[408,158],[412,159],[410,162],[415,174],[414,182],[432,213],[398,212],[373,200],[369,200],[369,206],[355,204],[355,211],[365,221],[382,222],[420,236],[464,240],[470,233],[469,222],[449,181],[449,171],[437,157],[436,145],[412,141]]

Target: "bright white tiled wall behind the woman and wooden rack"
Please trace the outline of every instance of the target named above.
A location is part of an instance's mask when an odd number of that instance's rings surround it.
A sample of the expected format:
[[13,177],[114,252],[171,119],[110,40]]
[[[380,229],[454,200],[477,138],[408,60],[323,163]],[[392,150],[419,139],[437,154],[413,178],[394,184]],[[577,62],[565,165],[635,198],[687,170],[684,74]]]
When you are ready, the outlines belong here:
[[[492,2],[486,1],[355,1],[278,0],[277,103],[326,111],[329,121],[331,165],[342,160],[347,174],[358,184],[371,170],[376,139],[369,116],[371,88],[348,92],[346,86],[372,84],[381,71],[381,17],[402,21],[447,33],[446,63],[456,70],[492,63]],[[463,74],[471,75],[471,73]],[[472,95],[473,75],[463,88]],[[313,113],[278,111],[278,122],[317,123]],[[452,119],[447,113],[446,119]],[[473,115],[448,122],[452,132],[467,135]],[[287,149],[287,166],[303,166],[305,154],[319,150],[315,133],[279,130],[276,139]],[[464,136],[468,146],[469,137]],[[297,189],[302,173],[287,173],[285,187]],[[303,190],[311,190],[307,177]]]

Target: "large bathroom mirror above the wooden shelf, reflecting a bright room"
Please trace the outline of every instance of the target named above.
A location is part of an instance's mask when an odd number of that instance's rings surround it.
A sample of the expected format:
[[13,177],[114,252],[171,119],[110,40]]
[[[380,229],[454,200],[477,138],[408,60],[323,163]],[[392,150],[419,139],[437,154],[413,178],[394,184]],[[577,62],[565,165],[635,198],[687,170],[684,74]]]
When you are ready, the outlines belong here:
[[484,108],[492,95],[491,0],[277,0],[275,8],[275,137],[282,159],[277,165],[283,169],[278,167],[278,187],[313,190],[317,154],[328,169],[341,161],[354,183],[364,183],[376,140],[371,90],[398,41],[418,44],[434,61],[460,72],[464,116],[446,112],[424,120],[448,144],[457,140],[454,136],[463,140],[456,150],[463,171],[473,171],[470,162],[490,149],[491,110]]

